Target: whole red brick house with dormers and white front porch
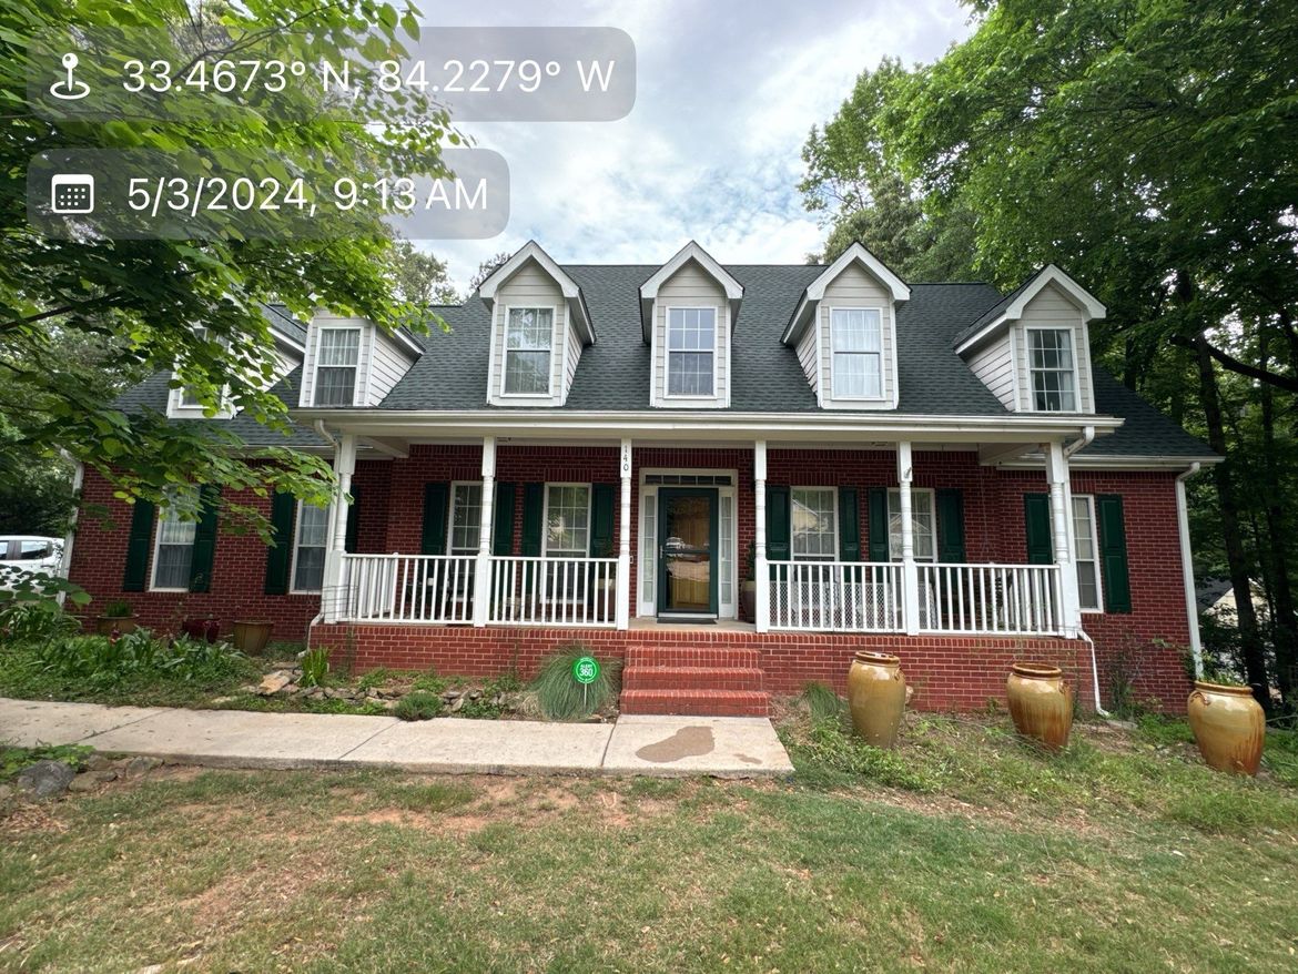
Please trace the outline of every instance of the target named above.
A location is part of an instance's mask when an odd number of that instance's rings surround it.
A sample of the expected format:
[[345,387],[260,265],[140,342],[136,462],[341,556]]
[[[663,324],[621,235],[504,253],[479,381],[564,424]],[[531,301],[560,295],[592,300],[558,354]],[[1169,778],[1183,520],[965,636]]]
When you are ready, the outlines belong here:
[[[859,244],[559,266],[530,243],[439,309],[449,334],[269,313],[292,445],[332,457],[337,503],[275,497],[266,548],[91,477],[119,525],[70,545],[91,610],[263,617],[361,668],[463,674],[580,639],[626,658],[628,712],[765,713],[841,688],[861,647],[927,708],[999,700],[1020,657],[1088,706],[1115,679],[1188,688],[1182,482],[1216,457],[1092,362],[1105,308],[1058,268],[1001,295],[907,284]],[[170,382],[127,405],[193,416]]]

